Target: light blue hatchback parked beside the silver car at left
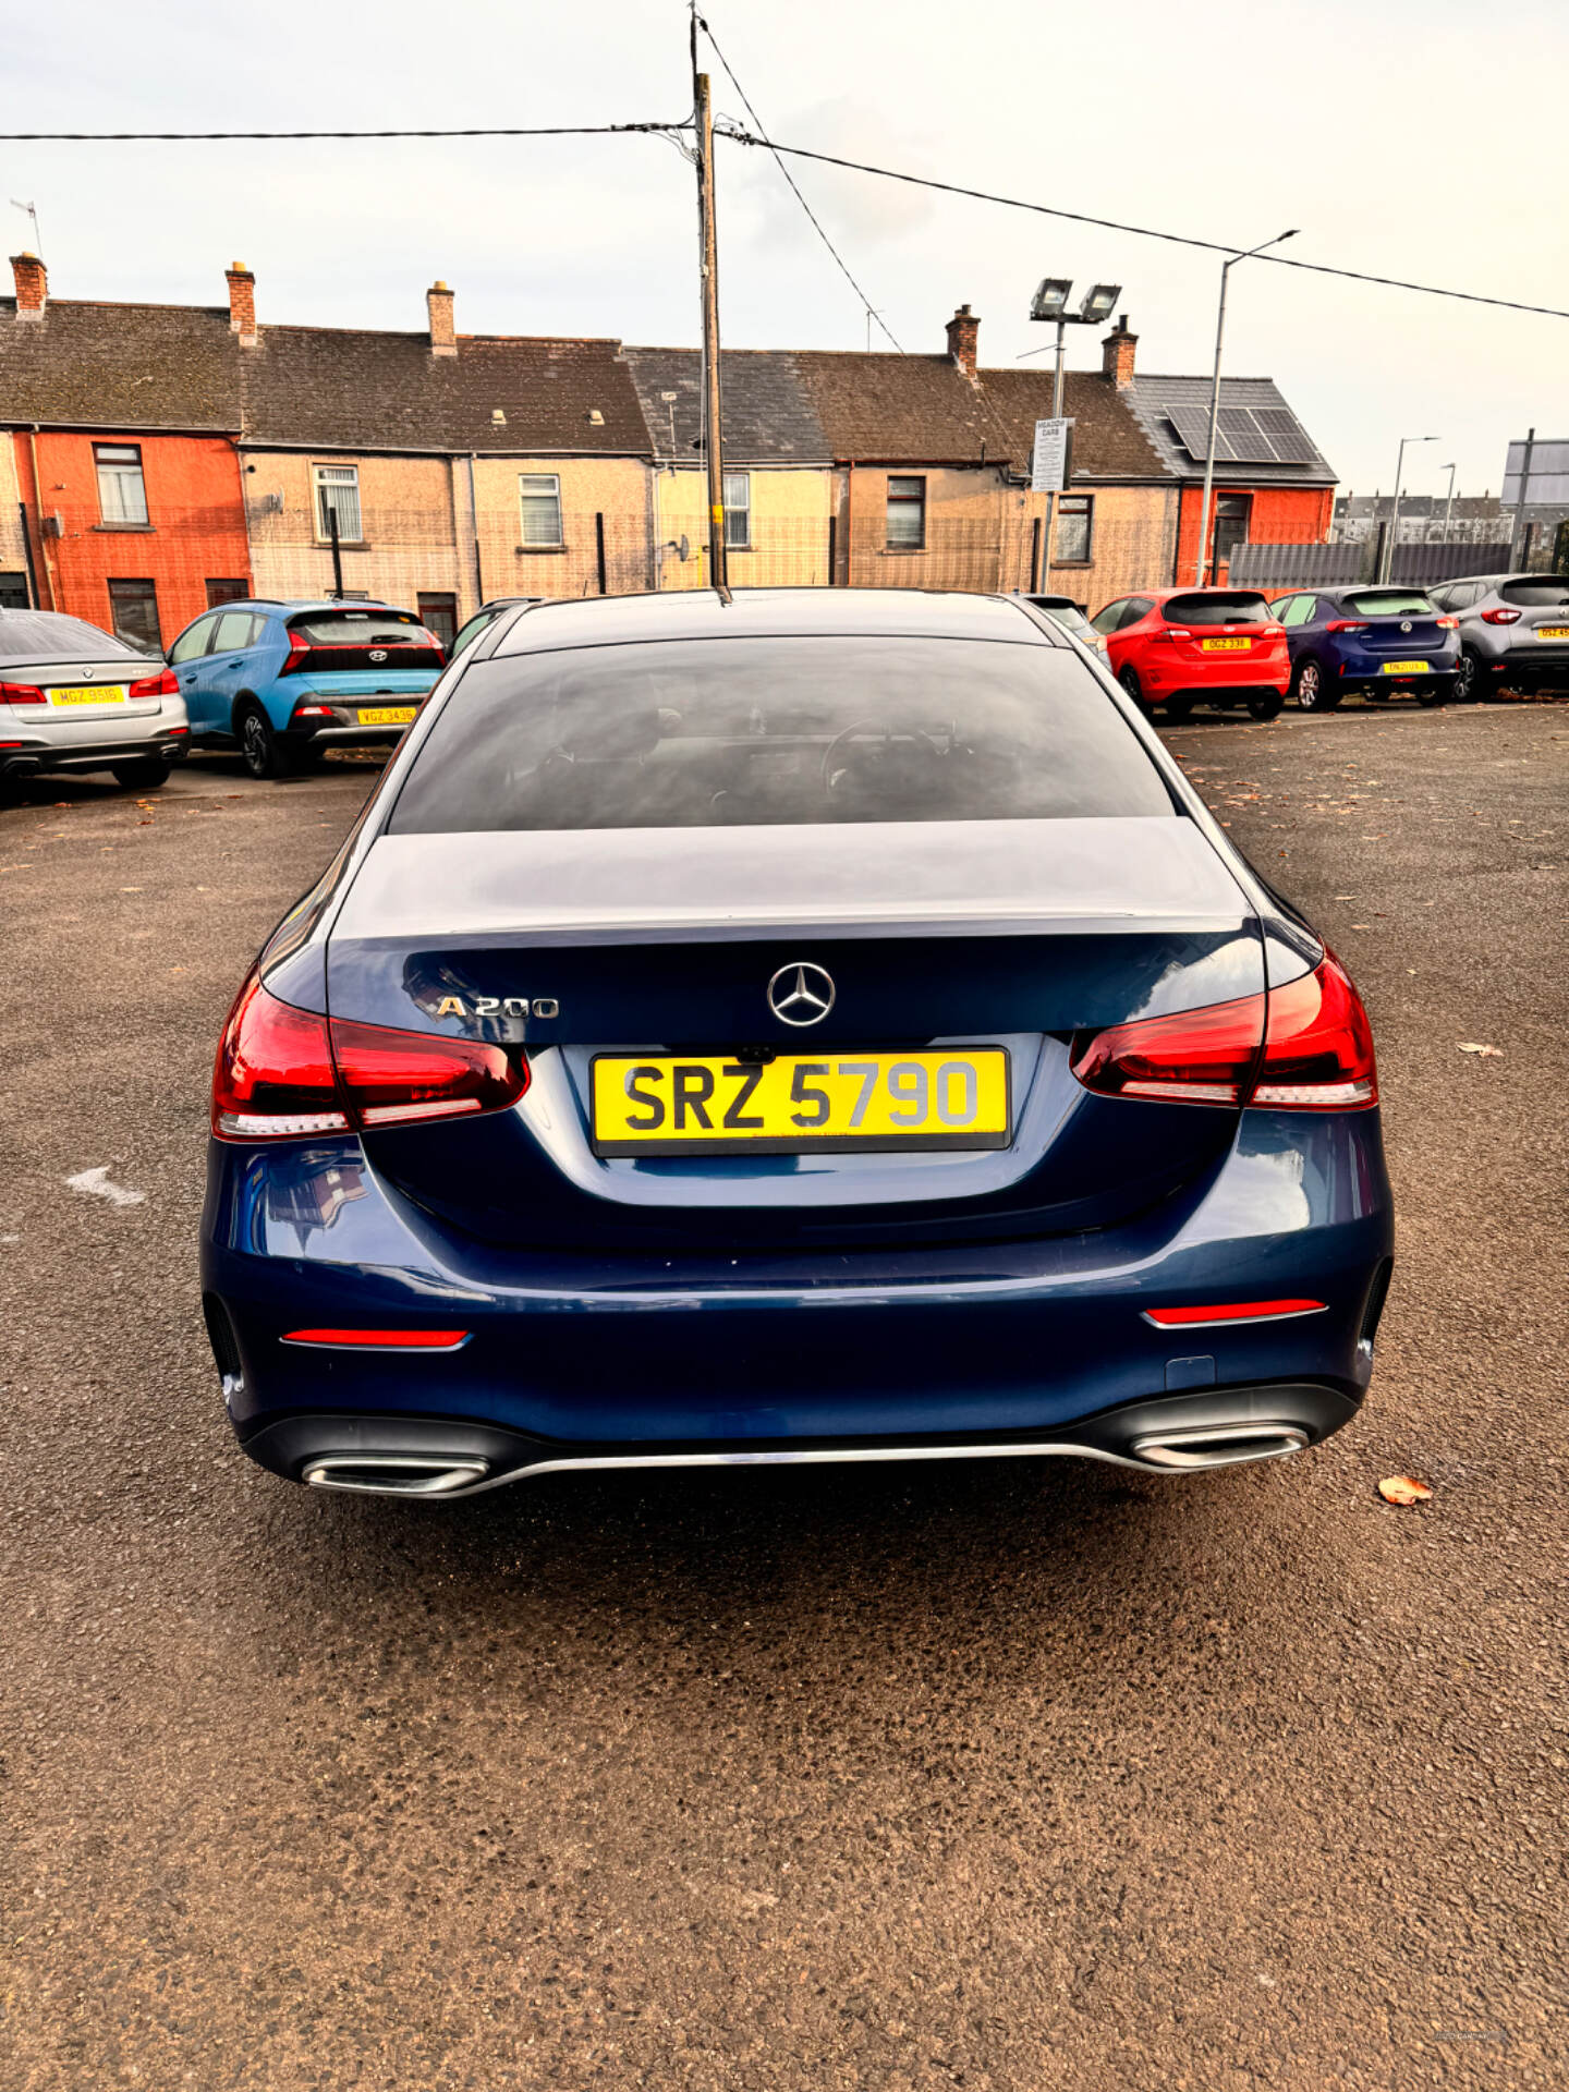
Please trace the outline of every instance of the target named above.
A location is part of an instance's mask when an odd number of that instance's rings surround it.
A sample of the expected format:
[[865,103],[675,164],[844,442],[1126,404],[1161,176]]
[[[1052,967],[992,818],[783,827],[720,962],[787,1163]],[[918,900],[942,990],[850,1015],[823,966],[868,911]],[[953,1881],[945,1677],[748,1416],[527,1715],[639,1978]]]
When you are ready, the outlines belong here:
[[345,743],[393,743],[446,665],[387,602],[226,602],[169,646],[192,747],[236,747],[255,778]]

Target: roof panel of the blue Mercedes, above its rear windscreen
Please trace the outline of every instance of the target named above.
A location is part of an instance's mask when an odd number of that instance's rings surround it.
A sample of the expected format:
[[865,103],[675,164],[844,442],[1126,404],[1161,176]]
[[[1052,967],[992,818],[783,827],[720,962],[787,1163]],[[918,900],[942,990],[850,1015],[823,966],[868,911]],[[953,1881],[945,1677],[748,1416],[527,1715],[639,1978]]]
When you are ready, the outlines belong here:
[[649,596],[536,602],[496,638],[492,655],[630,640],[720,638],[969,638],[1056,646],[1019,596],[929,588],[686,588]]

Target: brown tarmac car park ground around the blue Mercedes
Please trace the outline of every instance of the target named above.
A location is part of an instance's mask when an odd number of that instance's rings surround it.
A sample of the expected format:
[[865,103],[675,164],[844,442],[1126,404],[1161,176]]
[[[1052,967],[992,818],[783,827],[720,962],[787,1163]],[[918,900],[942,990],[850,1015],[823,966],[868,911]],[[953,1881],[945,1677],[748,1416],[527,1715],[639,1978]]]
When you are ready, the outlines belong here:
[[1400,1201],[1364,1416],[1169,1481],[259,1473],[207,1069],[372,772],[0,812],[6,2092],[1569,2082],[1569,711],[1169,738],[1366,994]]

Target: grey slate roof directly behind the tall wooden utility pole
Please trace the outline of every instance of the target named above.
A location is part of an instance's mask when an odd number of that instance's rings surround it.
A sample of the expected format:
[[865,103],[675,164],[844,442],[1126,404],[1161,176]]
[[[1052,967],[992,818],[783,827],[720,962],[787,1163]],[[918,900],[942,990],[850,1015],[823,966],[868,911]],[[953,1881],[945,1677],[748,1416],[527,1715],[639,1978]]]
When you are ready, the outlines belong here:
[[[701,456],[703,358],[697,349],[623,349],[655,456]],[[676,393],[665,400],[665,393]],[[720,400],[730,464],[833,464],[828,437],[789,349],[722,349]],[[674,425],[674,444],[672,444]]]

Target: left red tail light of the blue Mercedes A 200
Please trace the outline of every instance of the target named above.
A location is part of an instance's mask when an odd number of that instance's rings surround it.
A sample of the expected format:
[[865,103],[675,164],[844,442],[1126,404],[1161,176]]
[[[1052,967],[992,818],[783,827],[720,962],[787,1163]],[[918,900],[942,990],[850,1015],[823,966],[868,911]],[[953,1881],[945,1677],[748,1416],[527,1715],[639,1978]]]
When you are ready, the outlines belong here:
[[299,1140],[515,1105],[527,1061],[475,1040],[360,1025],[297,1010],[253,973],[213,1067],[220,1140]]

